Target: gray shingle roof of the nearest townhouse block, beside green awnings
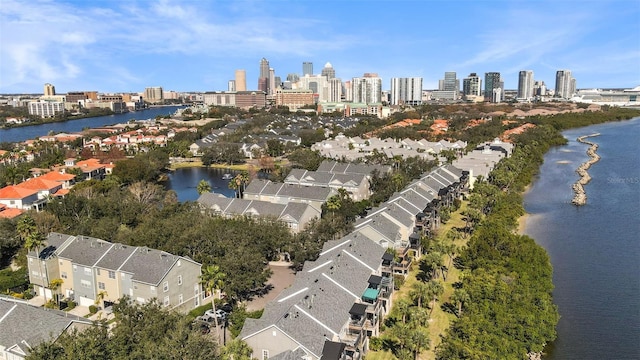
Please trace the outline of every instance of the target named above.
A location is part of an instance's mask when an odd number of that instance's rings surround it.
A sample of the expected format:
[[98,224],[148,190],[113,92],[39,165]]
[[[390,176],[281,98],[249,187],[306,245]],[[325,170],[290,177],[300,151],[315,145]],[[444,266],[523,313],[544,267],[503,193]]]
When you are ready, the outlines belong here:
[[359,302],[385,249],[360,234],[325,244],[318,260],[305,264],[292,286],[267,304],[261,319],[247,319],[241,338],[277,326],[315,355],[339,334]]

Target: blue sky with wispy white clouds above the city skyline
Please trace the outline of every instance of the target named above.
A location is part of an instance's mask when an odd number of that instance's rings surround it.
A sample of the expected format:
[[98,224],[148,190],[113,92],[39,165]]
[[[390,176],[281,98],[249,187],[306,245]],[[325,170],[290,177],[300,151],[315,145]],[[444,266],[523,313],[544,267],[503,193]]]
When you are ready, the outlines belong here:
[[236,69],[257,88],[259,61],[276,75],[331,62],[343,81],[378,73],[436,88],[499,71],[515,89],[559,69],[578,88],[640,85],[638,0],[0,0],[0,93],[227,89]]

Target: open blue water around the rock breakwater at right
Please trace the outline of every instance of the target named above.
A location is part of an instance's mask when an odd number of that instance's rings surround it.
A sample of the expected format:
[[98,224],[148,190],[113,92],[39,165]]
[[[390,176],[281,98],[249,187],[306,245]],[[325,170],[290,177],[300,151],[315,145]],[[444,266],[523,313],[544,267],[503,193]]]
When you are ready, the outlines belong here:
[[[582,135],[602,157],[589,170],[587,204],[571,184],[587,160]],[[640,118],[563,133],[525,195],[525,233],[547,249],[559,307],[558,339],[546,359],[640,359]]]

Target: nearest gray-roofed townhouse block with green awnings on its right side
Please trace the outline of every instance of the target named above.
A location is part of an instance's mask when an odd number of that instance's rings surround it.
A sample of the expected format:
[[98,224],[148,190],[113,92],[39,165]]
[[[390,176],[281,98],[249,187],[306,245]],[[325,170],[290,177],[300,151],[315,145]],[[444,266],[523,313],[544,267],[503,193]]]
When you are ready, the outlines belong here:
[[361,234],[327,242],[294,283],[247,319],[240,338],[261,359],[360,359],[391,309],[385,249]]

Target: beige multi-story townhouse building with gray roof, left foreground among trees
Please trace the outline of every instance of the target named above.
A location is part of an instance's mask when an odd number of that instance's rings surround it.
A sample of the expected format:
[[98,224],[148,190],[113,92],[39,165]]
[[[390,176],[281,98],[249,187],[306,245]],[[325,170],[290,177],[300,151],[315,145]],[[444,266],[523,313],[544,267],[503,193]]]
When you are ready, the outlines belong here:
[[[88,236],[50,233],[39,253],[27,254],[29,280],[38,295],[70,298],[81,306],[106,307],[123,296],[140,303],[153,298],[189,311],[202,302],[201,264],[147,247],[113,244]],[[53,279],[63,283],[54,292]]]

